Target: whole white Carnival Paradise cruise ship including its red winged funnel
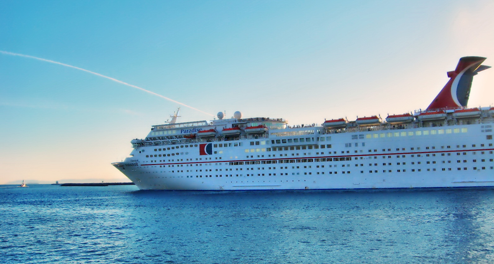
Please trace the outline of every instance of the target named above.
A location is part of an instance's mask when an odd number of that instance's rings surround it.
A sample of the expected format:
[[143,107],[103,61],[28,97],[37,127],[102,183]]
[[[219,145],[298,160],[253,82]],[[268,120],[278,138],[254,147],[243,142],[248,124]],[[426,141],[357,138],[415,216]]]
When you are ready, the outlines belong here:
[[466,108],[486,58],[463,57],[425,111],[289,126],[233,118],[154,125],[112,163],[139,189],[362,189],[494,186],[494,108]]

